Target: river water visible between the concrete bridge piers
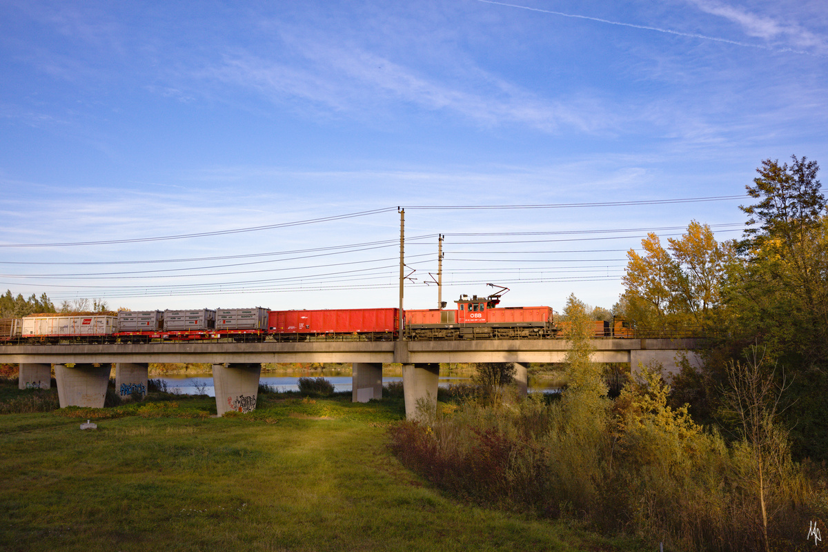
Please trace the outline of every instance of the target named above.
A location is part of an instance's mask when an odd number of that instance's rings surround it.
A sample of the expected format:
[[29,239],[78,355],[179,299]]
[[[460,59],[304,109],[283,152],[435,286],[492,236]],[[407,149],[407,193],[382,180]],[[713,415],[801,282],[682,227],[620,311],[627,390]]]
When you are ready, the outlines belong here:
[[[279,375],[268,374],[263,372],[259,377],[259,383],[267,385],[276,389],[277,391],[299,391],[300,377],[320,377],[318,372],[310,374],[308,372],[293,372],[280,373]],[[321,377],[331,382],[334,385],[334,391],[351,391],[353,389],[350,375],[338,375],[335,373],[325,374],[323,372]],[[213,375],[209,372],[205,374],[190,374],[190,375],[175,375],[168,374],[166,376],[152,377],[150,379],[161,380],[166,382],[167,391],[171,393],[178,393],[181,395],[209,395],[215,396],[215,388],[213,386]],[[383,377],[383,385],[390,382],[402,382],[402,377],[387,376]],[[471,382],[470,377],[462,376],[446,376],[440,377],[438,385],[440,387],[447,387],[449,385],[456,385],[459,383]],[[543,382],[536,382],[533,378],[529,379],[529,391],[544,391],[555,392],[555,388],[543,385]]]

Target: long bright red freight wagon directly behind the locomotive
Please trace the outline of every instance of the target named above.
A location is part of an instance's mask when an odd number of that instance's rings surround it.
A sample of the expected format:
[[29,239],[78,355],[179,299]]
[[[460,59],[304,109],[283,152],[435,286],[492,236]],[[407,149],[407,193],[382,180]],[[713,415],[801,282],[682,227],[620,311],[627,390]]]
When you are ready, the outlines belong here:
[[271,310],[267,328],[282,334],[360,334],[366,338],[395,337],[399,309]]

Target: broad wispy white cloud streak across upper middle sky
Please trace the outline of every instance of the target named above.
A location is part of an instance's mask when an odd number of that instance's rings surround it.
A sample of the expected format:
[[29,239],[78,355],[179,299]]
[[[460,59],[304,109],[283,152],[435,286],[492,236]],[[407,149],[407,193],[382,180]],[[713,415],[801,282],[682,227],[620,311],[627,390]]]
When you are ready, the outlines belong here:
[[595,99],[539,98],[480,69],[465,68],[473,82],[450,82],[354,46],[301,39],[291,46],[301,59],[286,63],[237,50],[199,76],[257,89],[277,102],[303,98],[358,117],[376,118],[384,106],[402,102],[459,114],[484,127],[517,123],[542,132],[599,132],[617,122]]

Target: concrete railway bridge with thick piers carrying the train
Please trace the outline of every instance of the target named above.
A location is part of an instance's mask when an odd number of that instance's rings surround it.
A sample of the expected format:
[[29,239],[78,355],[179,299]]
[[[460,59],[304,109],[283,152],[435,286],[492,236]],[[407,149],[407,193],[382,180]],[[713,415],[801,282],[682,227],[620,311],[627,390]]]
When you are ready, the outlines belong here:
[[[686,356],[699,363],[700,339],[593,339],[593,362],[661,362],[668,370]],[[116,344],[5,345],[0,362],[20,365],[20,386],[51,385],[55,365],[60,407],[103,407],[111,366],[122,394],[147,389],[150,362],[206,362],[213,365],[219,415],[256,407],[262,362],[351,362],[353,401],[367,402],[383,393],[383,364],[402,364],[406,415],[416,416],[417,401],[436,397],[440,362],[513,362],[517,385],[527,389],[528,362],[564,362],[571,344],[565,339],[480,339],[461,341],[310,341],[310,342],[167,342]]]

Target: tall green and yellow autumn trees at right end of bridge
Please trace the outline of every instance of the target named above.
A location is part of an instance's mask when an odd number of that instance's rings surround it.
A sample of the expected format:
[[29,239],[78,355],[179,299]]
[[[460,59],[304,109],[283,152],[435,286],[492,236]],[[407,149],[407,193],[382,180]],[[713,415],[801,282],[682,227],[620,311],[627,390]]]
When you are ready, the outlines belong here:
[[648,334],[691,331],[712,338],[704,366],[672,381],[672,406],[689,403],[694,419],[721,420],[726,368],[761,348],[790,388],[782,420],[792,429],[796,458],[828,460],[828,214],[819,166],[792,156],[770,159],[746,189],[753,204],[742,238],[717,242],[693,222],[662,246],[643,240],[628,252],[626,287],[615,311]]

